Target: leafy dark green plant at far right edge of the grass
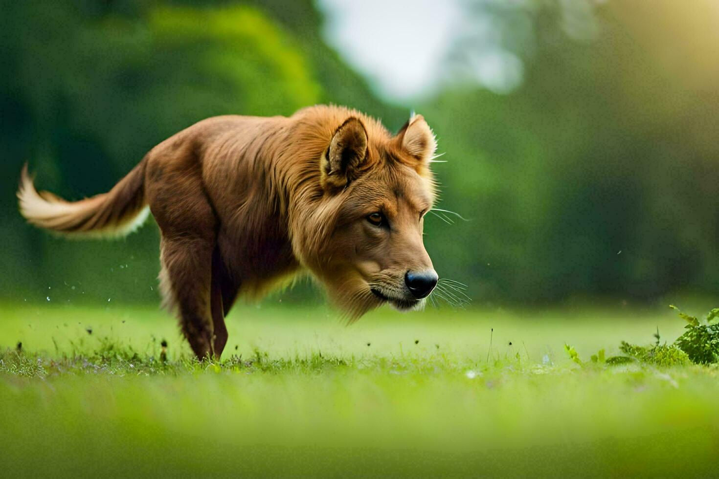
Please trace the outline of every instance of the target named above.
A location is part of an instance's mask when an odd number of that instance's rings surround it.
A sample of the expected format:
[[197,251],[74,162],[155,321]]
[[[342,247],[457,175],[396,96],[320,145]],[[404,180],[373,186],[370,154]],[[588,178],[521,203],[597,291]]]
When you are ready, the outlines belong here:
[[684,314],[674,305],[669,307],[679,313],[688,324],[687,331],[679,336],[674,344],[687,354],[692,363],[719,363],[719,308],[708,312],[703,321],[695,316]]

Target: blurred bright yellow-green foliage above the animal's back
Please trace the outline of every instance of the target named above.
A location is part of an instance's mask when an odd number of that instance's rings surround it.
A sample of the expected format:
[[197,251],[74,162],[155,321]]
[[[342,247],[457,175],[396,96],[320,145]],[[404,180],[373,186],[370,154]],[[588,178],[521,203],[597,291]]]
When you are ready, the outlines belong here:
[[[196,114],[212,109],[290,114],[319,100],[321,87],[306,58],[290,35],[260,10],[163,6],[150,10],[147,23],[157,50],[177,62],[168,69],[174,77],[168,80],[183,80],[198,99],[212,98],[214,105],[198,105],[201,111]],[[188,60],[191,68],[183,66]],[[162,64],[167,68],[167,62]],[[262,91],[272,94],[257,94]]]

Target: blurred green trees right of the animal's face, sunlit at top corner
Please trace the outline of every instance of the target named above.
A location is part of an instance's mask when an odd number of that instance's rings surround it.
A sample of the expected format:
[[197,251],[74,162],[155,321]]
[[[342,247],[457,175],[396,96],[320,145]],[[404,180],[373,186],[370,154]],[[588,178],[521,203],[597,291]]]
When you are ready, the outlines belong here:
[[454,83],[423,108],[449,160],[445,208],[472,219],[428,235],[445,274],[504,301],[719,292],[716,5],[468,11]]

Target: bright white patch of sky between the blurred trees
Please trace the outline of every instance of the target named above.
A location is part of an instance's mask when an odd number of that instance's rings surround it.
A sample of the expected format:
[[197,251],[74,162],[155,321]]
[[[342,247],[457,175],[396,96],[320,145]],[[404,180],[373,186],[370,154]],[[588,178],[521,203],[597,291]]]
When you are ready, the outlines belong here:
[[325,35],[388,98],[431,90],[461,21],[459,0],[319,0]]

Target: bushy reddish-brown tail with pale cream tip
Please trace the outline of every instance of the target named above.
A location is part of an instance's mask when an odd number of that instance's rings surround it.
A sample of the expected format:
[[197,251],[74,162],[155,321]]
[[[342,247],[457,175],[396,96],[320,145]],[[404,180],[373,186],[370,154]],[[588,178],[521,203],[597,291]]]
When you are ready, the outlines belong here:
[[75,202],[47,191],[37,192],[26,164],[17,197],[28,223],[77,238],[125,236],[139,228],[149,213],[144,160],[109,192]]

